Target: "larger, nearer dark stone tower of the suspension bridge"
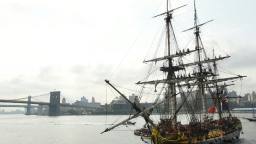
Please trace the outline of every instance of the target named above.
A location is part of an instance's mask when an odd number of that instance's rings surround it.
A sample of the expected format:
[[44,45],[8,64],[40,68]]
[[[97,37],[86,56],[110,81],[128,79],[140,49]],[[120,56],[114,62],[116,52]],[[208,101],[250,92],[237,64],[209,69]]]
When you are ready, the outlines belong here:
[[50,92],[49,115],[56,116],[60,112],[60,91]]

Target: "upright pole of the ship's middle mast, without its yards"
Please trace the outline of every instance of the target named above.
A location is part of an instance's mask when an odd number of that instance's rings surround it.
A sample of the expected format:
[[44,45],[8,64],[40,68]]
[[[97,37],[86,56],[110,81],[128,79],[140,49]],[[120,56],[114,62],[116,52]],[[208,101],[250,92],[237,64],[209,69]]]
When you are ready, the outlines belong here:
[[[199,48],[199,26],[197,26],[197,17],[196,17],[196,9],[195,9],[195,1],[194,1],[194,27],[195,27],[195,49],[197,49],[198,53],[198,66],[199,66],[199,76],[202,75],[202,64],[200,63],[200,48]],[[198,81],[203,82],[203,78],[198,78]],[[207,119],[207,106],[206,106],[206,97],[204,94],[204,86],[203,84],[198,85],[199,94],[202,97],[202,111],[203,111],[203,119]]]

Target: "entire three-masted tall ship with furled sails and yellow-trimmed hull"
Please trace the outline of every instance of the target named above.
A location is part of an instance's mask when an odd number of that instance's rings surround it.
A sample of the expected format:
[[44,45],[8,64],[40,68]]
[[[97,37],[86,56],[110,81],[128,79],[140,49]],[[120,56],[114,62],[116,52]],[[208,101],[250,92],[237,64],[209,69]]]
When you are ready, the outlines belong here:
[[[198,23],[195,2],[194,25],[182,32],[193,32],[194,46],[181,50],[177,44],[172,23],[172,12],[178,8],[168,9],[167,0],[166,12],[157,16],[164,16],[165,21],[165,52],[164,56],[144,60],[149,64],[147,75],[142,81],[136,84],[141,86],[141,92],[134,102],[129,101],[109,80],[105,80],[113,89],[123,96],[137,111],[119,123],[106,128],[103,132],[109,131],[127,120],[142,116],[146,124],[152,126],[152,136],[149,138],[155,144],[162,143],[222,143],[225,140],[239,138],[242,132],[241,121],[230,113],[228,108],[226,86],[233,85],[231,80],[242,79],[241,75],[233,77],[220,77],[216,61],[226,59],[230,56],[206,55],[200,28],[204,23]],[[164,40],[161,40],[164,41]],[[159,45],[159,44],[158,44]],[[171,46],[172,45],[172,46]],[[174,51],[174,52],[173,52]],[[194,53],[194,61],[184,63],[186,56]],[[159,70],[163,73],[163,79],[148,80],[152,73],[152,65],[160,62]],[[190,69],[189,69],[190,68]],[[190,72],[189,72],[190,71]],[[154,87],[156,99],[148,108],[140,107],[139,100],[147,85]],[[206,96],[208,95],[208,96]],[[177,103],[177,97],[181,102]],[[213,105],[207,109],[206,101],[211,100]],[[152,110],[156,108],[160,113],[159,121],[150,119]],[[182,111],[186,115],[188,123],[181,123],[177,114]],[[215,114],[212,114],[215,113]],[[216,114],[217,113],[217,114]],[[103,133],[102,132],[102,133]]]

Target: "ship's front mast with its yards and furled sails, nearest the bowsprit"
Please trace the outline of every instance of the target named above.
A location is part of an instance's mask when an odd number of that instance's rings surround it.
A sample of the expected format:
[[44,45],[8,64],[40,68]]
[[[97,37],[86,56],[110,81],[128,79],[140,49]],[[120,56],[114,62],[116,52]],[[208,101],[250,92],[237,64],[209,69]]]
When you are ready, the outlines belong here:
[[[174,66],[173,63],[172,63],[172,60],[174,57],[180,57],[182,55],[186,55],[186,54],[189,54],[190,52],[193,52],[195,50],[192,50],[192,51],[189,51],[187,49],[187,51],[184,51],[181,52],[181,50],[178,49],[178,46],[177,46],[177,42],[176,42],[176,38],[175,38],[175,34],[174,34],[174,31],[173,31],[173,28],[172,28],[172,25],[171,25],[171,19],[172,19],[172,11],[175,10],[175,9],[178,9],[180,7],[183,7],[185,5],[182,5],[182,6],[179,6],[177,8],[174,8],[174,9],[171,9],[169,10],[168,9],[168,0],[166,0],[166,12],[163,12],[161,14],[158,14],[156,16],[159,16],[159,15],[163,15],[163,14],[166,14],[166,17],[164,18],[165,22],[166,22],[166,48],[167,48],[167,54],[163,57],[159,57],[159,58],[154,58],[154,59],[150,59],[150,60],[144,60],[143,62],[148,62],[148,61],[159,61],[159,60],[166,60],[166,62],[164,61],[163,62],[163,66],[160,67],[160,71],[163,71],[167,76],[166,76],[166,79],[163,79],[164,83],[167,84],[167,87],[166,87],[166,92],[165,92],[165,95],[164,95],[164,99],[170,99],[170,100],[166,100],[166,102],[164,103],[164,105],[166,106],[166,108],[168,109],[167,111],[164,111],[164,117],[163,119],[165,120],[171,120],[171,124],[173,125],[173,128],[175,128],[175,124],[176,124],[176,96],[172,96],[173,94],[175,95],[176,93],[176,89],[175,89],[175,83],[176,83],[176,76],[175,76],[175,71],[178,71],[178,70],[183,70],[184,69],[184,66]],[[153,16],[153,17],[156,17],[156,16]],[[171,35],[173,36],[173,43],[171,43]],[[173,44],[176,46],[176,54],[171,54],[171,48],[174,48],[174,47],[171,47],[170,45]],[[179,52],[178,52],[179,50]],[[182,62],[181,62],[182,64]],[[153,80],[155,81],[154,83],[151,83],[151,82],[137,82],[136,84],[141,84],[141,83],[148,83],[148,84],[154,84],[155,87],[158,83],[158,80]],[[156,91],[156,90],[155,90]],[[170,104],[169,104],[170,102]],[[169,112],[170,111],[170,112]],[[170,117],[169,117],[169,114],[170,114]],[[167,118],[167,119],[166,119]]]

